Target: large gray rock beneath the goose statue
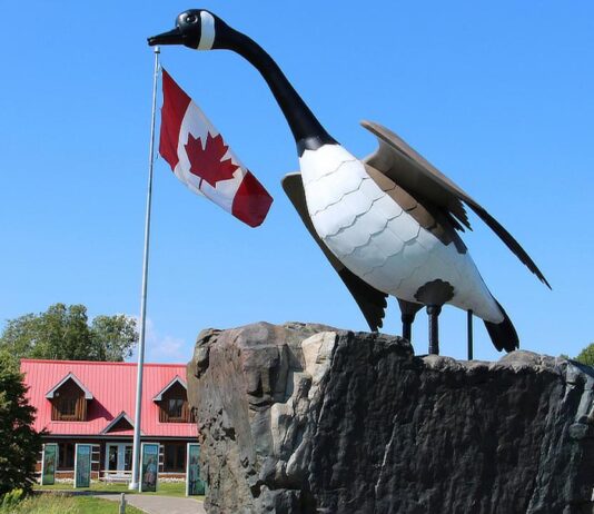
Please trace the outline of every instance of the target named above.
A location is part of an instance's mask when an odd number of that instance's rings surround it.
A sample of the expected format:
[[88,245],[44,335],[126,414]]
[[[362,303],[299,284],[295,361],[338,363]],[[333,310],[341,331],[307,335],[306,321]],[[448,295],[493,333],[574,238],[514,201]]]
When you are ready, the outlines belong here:
[[259,323],[188,364],[209,513],[592,513],[594,370]]

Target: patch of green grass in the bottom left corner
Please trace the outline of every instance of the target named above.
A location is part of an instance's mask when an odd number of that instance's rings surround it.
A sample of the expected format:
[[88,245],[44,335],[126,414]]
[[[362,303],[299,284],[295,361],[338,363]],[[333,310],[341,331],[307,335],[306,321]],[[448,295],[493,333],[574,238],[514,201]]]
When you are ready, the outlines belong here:
[[[117,502],[91,496],[62,496],[60,494],[34,495],[10,507],[0,507],[0,514],[118,514],[118,512]],[[126,514],[143,513],[127,505]]]

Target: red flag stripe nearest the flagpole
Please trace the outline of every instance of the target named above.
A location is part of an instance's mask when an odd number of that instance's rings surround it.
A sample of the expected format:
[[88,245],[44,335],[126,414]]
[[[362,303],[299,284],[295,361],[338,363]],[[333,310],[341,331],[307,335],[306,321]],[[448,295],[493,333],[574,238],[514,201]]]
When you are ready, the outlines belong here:
[[169,162],[171,169],[175,169],[179,162],[177,146],[181,120],[186,115],[191,98],[186,95],[165,69],[162,70],[162,96],[159,154]]

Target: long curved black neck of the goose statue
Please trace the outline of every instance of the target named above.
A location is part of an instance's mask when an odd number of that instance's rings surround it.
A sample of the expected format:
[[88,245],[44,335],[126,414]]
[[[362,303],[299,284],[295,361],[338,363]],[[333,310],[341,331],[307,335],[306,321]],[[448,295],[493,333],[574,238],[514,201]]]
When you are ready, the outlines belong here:
[[217,33],[214,48],[225,48],[239,53],[260,72],[289,123],[299,156],[306,149],[316,150],[323,145],[336,144],[278,65],[258,43],[227,26],[224,34]]

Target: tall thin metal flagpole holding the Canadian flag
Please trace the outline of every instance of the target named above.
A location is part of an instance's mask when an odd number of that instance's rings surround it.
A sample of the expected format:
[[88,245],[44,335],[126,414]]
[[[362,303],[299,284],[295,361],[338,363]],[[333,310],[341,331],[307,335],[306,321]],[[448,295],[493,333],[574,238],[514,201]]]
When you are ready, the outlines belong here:
[[159,76],[159,47],[155,47],[155,71],[152,75],[152,113],[150,118],[149,174],[147,191],[147,212],[145,218],[145,253],[142,259],[142,287],[140,293],[140,337],[138,342],[138,367],[136,372],[136,411],[132,449],[132,481],[129,488],[140,488],[140,419],[142,407],[142,372],[145,366],[145,340],[147,328],[147,279],[150,238],[150,207],[152,200],[152,164],[155,158],[155,118],[157,112],[157,78]]

